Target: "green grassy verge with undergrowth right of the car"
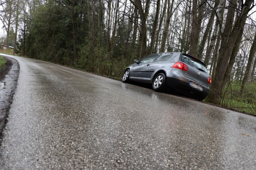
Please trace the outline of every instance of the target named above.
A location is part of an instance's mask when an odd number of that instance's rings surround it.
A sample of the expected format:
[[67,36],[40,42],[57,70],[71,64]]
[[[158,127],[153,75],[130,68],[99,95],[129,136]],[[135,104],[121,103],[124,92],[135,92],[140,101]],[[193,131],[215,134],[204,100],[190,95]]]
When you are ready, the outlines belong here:
[[256,83],[247,83],[244,94],[240,94],[241,82],[234,81],[223,91],[221,105],[227,108],[256,115]]

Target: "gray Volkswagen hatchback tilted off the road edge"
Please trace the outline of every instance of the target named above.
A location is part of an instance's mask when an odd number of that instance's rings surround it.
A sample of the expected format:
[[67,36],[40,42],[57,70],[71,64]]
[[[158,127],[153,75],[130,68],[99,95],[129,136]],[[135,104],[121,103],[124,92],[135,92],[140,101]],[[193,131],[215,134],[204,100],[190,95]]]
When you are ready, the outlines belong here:
[[149,55],[129,65],[122,76],[122,82],[139,81],[152,84],[156,92],[167,87],[203,100],[210,91],[211,78],[206,65],[180,52],[163,52]]

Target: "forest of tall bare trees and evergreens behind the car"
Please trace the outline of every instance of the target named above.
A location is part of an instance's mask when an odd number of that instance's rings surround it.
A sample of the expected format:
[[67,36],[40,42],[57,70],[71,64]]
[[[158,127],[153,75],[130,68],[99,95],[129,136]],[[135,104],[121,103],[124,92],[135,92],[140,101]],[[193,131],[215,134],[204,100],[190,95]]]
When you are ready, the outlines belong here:
[[21,56],[121,78],[156,52],[207,66],[206,102],[256,114],[254,0],[1,0],[0,43]]

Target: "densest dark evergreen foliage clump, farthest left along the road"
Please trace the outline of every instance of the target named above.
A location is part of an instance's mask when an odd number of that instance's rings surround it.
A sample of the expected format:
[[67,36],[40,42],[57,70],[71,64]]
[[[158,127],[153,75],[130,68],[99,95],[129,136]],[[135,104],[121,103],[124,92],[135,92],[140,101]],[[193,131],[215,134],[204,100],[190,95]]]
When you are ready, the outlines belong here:
[[[74,65],[73,35],[70,13],[54,1],[37,7],[28,34],[20,35],[20,49],[30,58]],[[82,39],[80,37],[79,39]]]

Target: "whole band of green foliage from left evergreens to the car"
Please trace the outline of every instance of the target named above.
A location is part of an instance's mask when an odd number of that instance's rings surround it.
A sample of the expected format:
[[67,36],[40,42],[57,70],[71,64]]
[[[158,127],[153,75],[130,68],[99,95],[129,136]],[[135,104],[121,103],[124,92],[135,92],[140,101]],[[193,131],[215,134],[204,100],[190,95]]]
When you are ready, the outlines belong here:
[[134,61],[136,54],[134,45],[126,42],[130,39],[127,37],[128,22],[118,24],[117,37],[111,39],[115,43],[111,49],[106,50],[105,32],[102,28],[100,43],[97,44],[98,14],[88,3],[83,0],[76,0],[74,3],[77,47],[75,61],[70,8],[53,0],[36,7],[31,15],[31,22],[27,24],[27,32],[19,35],[21,54],[88,72],[121,77],[123,69]]

